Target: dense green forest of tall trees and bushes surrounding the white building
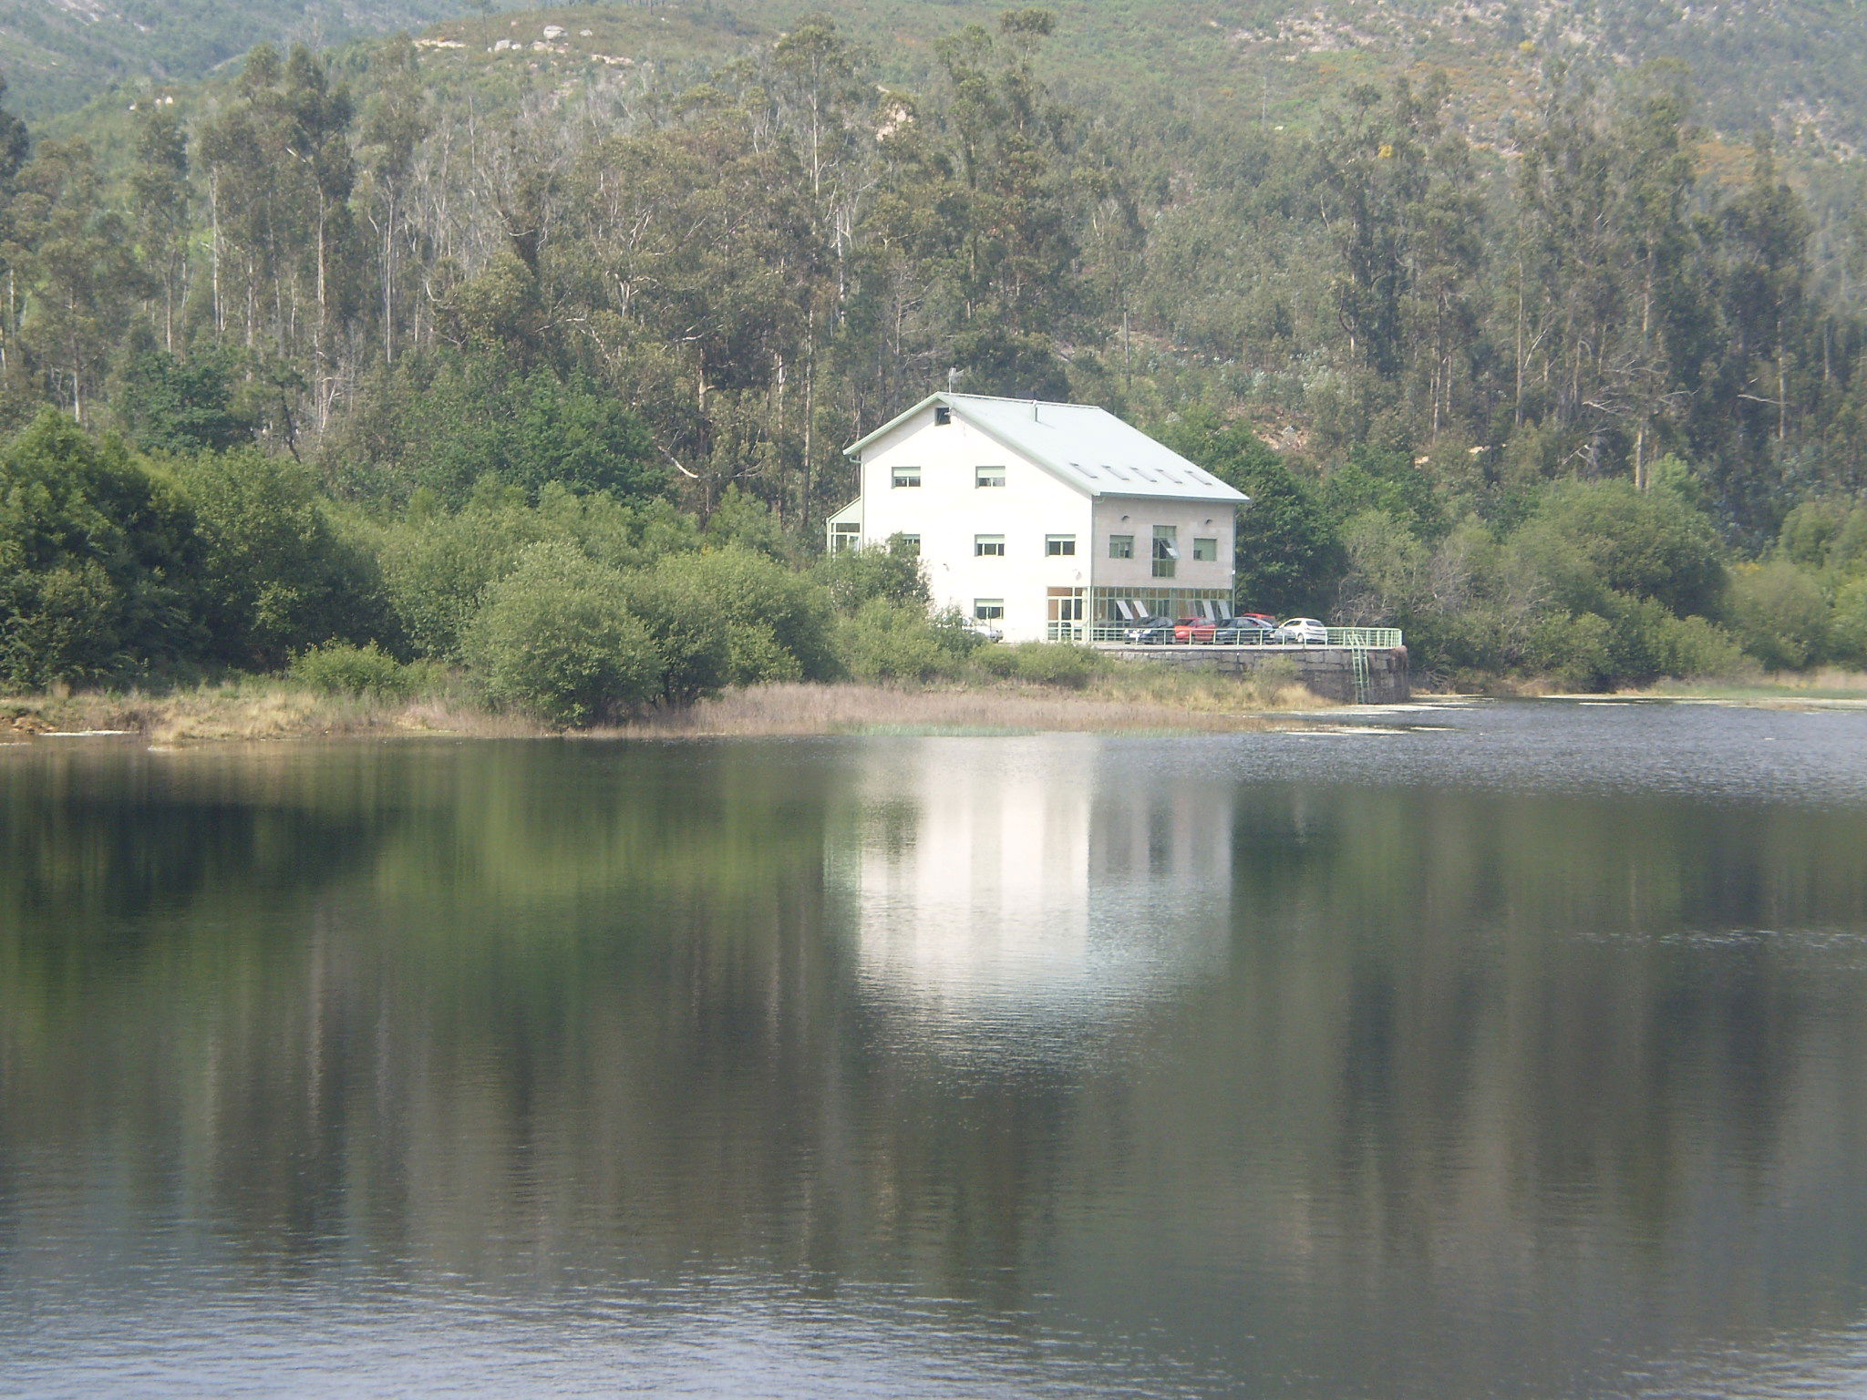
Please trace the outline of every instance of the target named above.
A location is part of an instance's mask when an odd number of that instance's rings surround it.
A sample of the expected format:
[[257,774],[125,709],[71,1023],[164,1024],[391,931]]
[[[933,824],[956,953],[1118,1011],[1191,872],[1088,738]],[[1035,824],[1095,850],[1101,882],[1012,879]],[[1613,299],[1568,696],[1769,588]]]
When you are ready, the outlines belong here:
[[[913,90],[825,17],[575,82],[562,24],[485,24],[530,82],[260,47],[6,121],[7,681],[329,642],[491,676],[551,599],[629,698],[849,670],[793,623],[900,640],[913,579],[780,566],[840,446],[948,379],[1161,433],[1258,502],[1240,603],[1406,625],[1428,672],[1867,665],[1867,207],[1677,63],[1551,52],[1481,131],[1436,71],[1301,123],[1085,101],[1042,9]],[[670,599],[728,566],[741,631],[668,679]]]

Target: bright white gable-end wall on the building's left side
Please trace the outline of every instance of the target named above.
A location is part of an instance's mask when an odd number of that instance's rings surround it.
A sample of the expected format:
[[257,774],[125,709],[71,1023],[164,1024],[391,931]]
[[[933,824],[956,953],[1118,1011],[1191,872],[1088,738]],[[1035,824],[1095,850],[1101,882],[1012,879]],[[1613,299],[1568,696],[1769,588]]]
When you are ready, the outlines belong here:
[[[920,469],[919,487],[894,485],[896,469]],[[1003,467],[1003,487],[976,483],[980,467]],[[1092,500],[954,414],[935,426],[928,409],[863,454],[863,539],[920,536],[934,607],[976,616],[999,599],[1006,640],[1042,640],[1051,588],[1088,588]],[[980,536],[1003,536],[1004,554],[978,554]],[[1074,554],[1049,554],[1049,536]]]

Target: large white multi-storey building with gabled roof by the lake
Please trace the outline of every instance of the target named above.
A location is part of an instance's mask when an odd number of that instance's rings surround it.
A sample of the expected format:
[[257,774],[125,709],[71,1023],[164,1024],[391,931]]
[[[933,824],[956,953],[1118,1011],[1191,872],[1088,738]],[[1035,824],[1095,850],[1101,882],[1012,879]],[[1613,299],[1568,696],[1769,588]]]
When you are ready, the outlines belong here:
[[1006,640],[1230,612],[1249,497],[1103,409],[932,394],[844,452],[861,495],[829,517],[829,547],[905,536],[934,607]]

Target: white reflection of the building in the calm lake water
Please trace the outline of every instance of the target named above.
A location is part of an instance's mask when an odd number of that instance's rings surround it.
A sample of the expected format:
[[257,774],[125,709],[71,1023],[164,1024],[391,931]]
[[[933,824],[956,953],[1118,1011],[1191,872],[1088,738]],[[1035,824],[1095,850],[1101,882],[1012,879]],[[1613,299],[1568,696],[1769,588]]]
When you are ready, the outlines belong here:
[[1092,737],[876,743],[863,762],[835,877],[877,991],[954,1014],[1102,1004],[1223,939],[1228,782],[1154,778]]

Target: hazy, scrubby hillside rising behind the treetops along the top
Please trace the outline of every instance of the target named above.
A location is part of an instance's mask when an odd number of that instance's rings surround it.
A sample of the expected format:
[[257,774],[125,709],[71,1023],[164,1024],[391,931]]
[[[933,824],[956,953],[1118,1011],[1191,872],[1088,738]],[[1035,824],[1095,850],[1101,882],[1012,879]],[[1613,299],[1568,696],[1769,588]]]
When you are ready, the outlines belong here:
[[[260,41],[338,45],[409,28],[459,67],[560,82],[592,63],[721,62],[771,43],[812,6],[469,13],[498,9],[469,0],[6,0],[0,73],[13,105],[43,118],[112,82],[202,77]],[[877,71],[913,86],[935,67],[939,35],[990,24],[1004,6],[844,0],[829,9]],[[1355,82],[1438,69],[1460,118],[1509,144],[1551,58],[1602,77],[1678,60],[1718,131],[1742,138],[1772,125],[1818,155],[1867,144],[1867,7],[1848,0],[1057,0],[1049,9],[1059,22],[1047,60],[1060,91],[1096,99],[1288,123]],[[545,26],[564,34],[545,41]]]

